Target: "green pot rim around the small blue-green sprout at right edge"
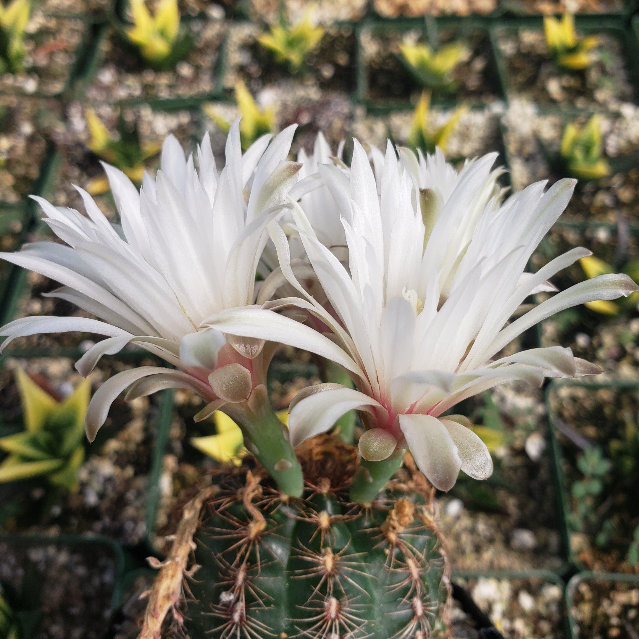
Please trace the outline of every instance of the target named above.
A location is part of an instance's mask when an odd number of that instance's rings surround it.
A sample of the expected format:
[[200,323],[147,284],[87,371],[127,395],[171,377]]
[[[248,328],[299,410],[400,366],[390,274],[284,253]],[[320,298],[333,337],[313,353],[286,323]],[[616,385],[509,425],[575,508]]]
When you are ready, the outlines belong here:
[[550,425],[550,450],[553,468],[555,470],[555,479],[557,481],[557,494],[560,498],[560,508],[562,514],[562,536],[564,537],[564,543],[566,544],[568,558],[572,566],[578,571],[588,571],[587,566],[581,562],[576,556],[571,544],[571,527],[569,525],[569,514],[571,514],[571,504],[569,489],[566,483],[566,475],[562,468],[562,458],[564,456],[562,445],[558,440],[557,431],[558,428],[555,424],[555,415],[551,410],[550,396],[554,390],[563,386],[577,386],[584,389],[637,389],[639,382],[636,380],[616,380],[609,382],[592,382],[592,381],[580,381],[580,380],[566,380],[566,381],[553,381],[546,387],[545,403],[546,412],[548,413],[548,422]]

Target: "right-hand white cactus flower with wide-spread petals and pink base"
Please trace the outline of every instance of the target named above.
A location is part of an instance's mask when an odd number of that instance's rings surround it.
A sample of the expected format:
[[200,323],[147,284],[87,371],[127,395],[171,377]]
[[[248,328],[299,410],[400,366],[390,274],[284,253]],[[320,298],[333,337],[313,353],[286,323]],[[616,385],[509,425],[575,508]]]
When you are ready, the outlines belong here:
[[[530,185],[503,199],[491,171],[496,155],[459,173],[438,155],[401,161],[389,142],[375,173],[355,141],[350,175],[321,167],[341,215],[348,265],[327,249],[309,217],[289,199],[296,230],[328,304],[307,293],[291,268],[286,235],[269,225],[282,269],[298,295],[264,309],[222,311],[205,323],[222,332],[279,341],[332,358],[350,371],[357,390],[335,384],[305,389],[291,404],[291,443],[330,429],[343,413],[361,410],[360,452],[380,461],[410,448],[419,468],[443,490],[464,470],[486,479],[493,464],[486,445],[452,406],[498,384],[599,372],[569,348],[498,353],[539,321],[591,300],[627,296],[637,286],[626,275],[601,275],[557,293],[511,321],[521,303],[562,268],[587,256],[576,248],[537,273],[530,255],[566,208],[574,180]],[[408,167],[408,168],[407,168]],[[375,177],[377,174],[377,178]],[[438,197],[419,197],[436,189]],[[545,192],[544,192],[545,190]],[[429,194],[426,194],[429,195]],[[316,316],[321,329],[277,314],[295,306]],[[332,335],[322,334],[330,330]],[[335,357],[335,344],[341,355]]]

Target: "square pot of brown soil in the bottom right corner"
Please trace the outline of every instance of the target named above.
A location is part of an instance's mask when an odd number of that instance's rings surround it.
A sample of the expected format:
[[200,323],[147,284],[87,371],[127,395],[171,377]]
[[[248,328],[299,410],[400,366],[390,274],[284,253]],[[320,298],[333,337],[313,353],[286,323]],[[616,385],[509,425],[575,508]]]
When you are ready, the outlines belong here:
[[639,576],[578,573],[566,587],[571,639],[635,639],[639,632]]

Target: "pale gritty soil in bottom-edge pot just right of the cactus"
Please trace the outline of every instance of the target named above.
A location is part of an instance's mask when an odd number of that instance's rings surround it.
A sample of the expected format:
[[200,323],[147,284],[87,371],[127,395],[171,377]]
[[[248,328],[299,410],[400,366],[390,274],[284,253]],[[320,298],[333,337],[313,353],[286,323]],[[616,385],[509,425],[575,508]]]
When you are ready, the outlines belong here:
[[[509,639],[564,639],[564,597],[555,581],[544,577],[454,578],[495,627]],[[458,602],[452,610],[452,636],[481,639],[472,618]]]

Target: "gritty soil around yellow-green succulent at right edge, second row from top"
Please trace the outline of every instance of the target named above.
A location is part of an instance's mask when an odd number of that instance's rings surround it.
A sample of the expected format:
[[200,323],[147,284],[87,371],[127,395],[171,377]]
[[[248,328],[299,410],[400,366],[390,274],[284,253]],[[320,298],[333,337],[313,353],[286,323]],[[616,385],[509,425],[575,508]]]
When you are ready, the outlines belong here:
[[[581,127],[592,114],[549,111],[513,102],[502,122],[514,188],[569,177],[557,167],[562,133],[567,123]],[[615,224],[625,219],[639,226],[639,108],[626,104],[619,112],[598,112],[597,117],[612,174],[599,180],[579,180],[560,220]]]

